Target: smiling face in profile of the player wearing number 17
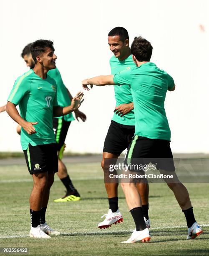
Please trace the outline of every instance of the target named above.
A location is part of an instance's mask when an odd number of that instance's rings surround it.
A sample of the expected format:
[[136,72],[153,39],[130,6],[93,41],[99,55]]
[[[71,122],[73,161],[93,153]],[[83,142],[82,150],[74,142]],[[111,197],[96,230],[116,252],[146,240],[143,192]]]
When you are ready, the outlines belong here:
[[37,62],[39,62],[46,69],[55,69],[56,64],[55,60],[57,56],[54,54],[54,51],[49,47],[45,48],[45,51],[36,57]]

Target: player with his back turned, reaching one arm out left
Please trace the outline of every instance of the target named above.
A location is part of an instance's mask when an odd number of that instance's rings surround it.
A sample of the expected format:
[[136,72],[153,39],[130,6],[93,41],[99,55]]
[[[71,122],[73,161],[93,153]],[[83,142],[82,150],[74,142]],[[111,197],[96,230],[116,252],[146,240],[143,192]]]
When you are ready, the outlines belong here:
[[[169,74],[149,62],[152,49],[149,41],[141,36],[136,37],[131,45],[132,58],[136,64],[134,69],[115,75],[86,79],[82,84],[86,90],[89,90],[88,84],[98,86],[130,84],[136,123],[135,136],[128,147],[126,161],[136,164],[134,159],[139,159],[139,161],[144,159],[143,164],[152,162],[156,164],[156,168],[161,174],[169,173],[174,176],[173,179],[165,178],[164,180],[174,192],[176,200],[185,214],[188,226],[187,239],[191,239],[202,233],[202,230],[194,218],[189,193],[174,172],[175,167],[170,148],[171,131],[164,109],[166,92],[175,90],[175,84]],[[162,161],[162,159],[164,160]],[[135,182],[131,180],[128,183],[122,183],[121,186],[136,224],[136,229],[131,237],[123,243],[149,241],[150,234],[143,218],[141,198]]]

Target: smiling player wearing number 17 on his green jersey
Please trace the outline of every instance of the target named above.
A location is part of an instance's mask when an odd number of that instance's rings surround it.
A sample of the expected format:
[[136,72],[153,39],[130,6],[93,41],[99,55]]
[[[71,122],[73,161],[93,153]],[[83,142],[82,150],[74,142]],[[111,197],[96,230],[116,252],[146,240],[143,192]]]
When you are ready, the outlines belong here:
[[[45,221],[50,187],[58,172],[57,145],[53,131],[53,116],[67,115],[81,105],[83,93],[65,108],[58,106],[57,85],[47,72],[55,69],[53,42],[37,40],[31,45],[34,69],[18,77],[8,97],[7,113],[21,127],[20,141],[28,171],[33,177],[30,195],[30,237],[50,238],[60,232]],[[16,109],[19,105],[20,114]]]

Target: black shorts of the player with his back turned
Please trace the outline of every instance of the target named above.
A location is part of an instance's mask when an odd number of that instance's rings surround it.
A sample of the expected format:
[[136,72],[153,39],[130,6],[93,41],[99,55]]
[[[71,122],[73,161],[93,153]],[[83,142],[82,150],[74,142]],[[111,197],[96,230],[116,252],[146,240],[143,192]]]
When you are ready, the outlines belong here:
[[150,139],[135,135],[125,158],[130,164],[155,164],[159,170],[175,171],[170,141]]

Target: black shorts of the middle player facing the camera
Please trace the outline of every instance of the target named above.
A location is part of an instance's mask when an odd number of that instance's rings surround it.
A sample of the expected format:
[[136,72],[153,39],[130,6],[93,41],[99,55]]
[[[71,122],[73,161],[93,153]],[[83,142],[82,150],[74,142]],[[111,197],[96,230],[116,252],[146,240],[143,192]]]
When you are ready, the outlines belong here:
[[111,120],[111,125],[105,138],[103,152],[120,156],[123,150],[128,148],[134,133],[134,125],[122,125]]

